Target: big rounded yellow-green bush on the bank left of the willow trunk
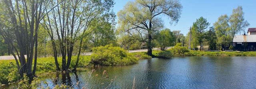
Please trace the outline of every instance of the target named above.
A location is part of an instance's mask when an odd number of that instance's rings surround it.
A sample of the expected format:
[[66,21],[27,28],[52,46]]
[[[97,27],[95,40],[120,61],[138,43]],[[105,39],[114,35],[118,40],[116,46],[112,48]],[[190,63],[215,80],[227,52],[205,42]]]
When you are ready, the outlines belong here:
[[101,66],[121,66],[138,63],[138,58],[127,53],[126,50],[112,45],[92,48],[91,63]]

